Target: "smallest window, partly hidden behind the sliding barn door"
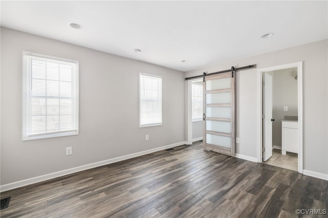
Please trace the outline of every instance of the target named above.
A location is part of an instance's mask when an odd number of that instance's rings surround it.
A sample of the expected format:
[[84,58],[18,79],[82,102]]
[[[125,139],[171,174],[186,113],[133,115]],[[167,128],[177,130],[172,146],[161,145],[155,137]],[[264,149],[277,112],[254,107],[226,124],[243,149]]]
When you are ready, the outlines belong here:
[[203,86],[192,83],[192,118],[193,121],[202,120],[203,116]]

